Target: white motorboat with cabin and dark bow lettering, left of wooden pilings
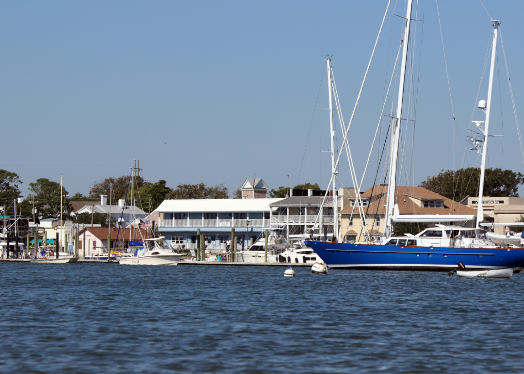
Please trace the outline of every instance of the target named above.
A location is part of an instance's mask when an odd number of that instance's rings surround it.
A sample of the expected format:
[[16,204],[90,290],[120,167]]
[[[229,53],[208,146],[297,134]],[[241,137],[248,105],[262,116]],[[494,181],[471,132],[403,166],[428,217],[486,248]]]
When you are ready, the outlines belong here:
[[176,253],[158,242],[163,240],[163,238],[145,239],[144,247],[137,248],[133,254],[122,254],[118,262],[123,265],[178,265],[183,254]]

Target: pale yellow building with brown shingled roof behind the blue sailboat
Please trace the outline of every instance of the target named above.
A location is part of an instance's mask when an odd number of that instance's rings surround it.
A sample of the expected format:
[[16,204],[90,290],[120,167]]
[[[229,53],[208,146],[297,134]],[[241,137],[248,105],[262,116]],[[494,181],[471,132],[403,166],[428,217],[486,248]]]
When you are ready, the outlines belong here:
[[[373,186],[361,194],[362,209],[366,222],[362,222],[356,199],[341,211],[341,232],[344,240],[364,240],[364,226],[370,236],[381,236],[385,231],[386,223],[386,193],[388,186]],[[442,195],[436,194],[423,187],[397,186],[395,203],[400,214],[428,214],[428,215],[474,215],[475,211],[459,202],[455,202]],[[353,216],[351,212],[353,211]],[[447,222],[441,222],[446,224]]]

